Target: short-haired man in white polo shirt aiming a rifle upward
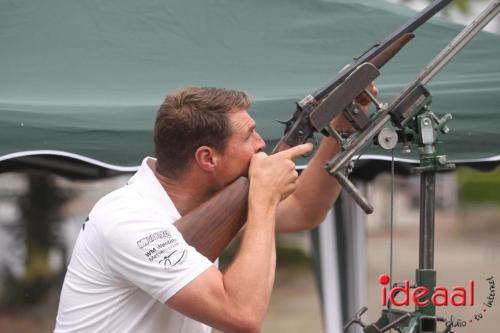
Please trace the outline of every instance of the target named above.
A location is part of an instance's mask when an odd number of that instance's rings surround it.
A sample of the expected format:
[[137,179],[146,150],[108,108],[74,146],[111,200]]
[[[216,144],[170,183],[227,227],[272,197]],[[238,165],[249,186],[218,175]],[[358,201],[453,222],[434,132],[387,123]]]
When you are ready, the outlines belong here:
[[[146,158],[82,227],[55,332],[260,331],[274,281],[275,231],[324,219],[339,185],[323,165],[339,146],[324,139],[298,177],[292,161],[311,145],[267,156],[250,104],[245,93],[218,88],[167,96],[155,122],[157,159]],[[349,128],[344,120],[335,126]],[[242,175],[250,181],[247,223],[222,273],[172,223]]]

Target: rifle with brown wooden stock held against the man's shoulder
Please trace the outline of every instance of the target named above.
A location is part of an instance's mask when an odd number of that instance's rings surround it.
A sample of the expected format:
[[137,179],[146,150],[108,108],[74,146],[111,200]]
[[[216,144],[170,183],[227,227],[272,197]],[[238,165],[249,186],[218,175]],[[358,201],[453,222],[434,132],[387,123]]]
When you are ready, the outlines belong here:
[[[378,69],[413,38],[412,32],[451,1],[432,2],[415,18],[355,58],[326,86],[300,100],[292,118],[284,122],[285,133],[272,153],[304,143],[315,132],[338,137],[330,121],[340,113],[357,129],[367,126],[367,116],[357,112],[353,100],[379,75]],[[368,91],[365,93],[370,96]],[[174,225],[188,244],[214,261],[244,225],[247,201],[248,179],[240,177]]]

